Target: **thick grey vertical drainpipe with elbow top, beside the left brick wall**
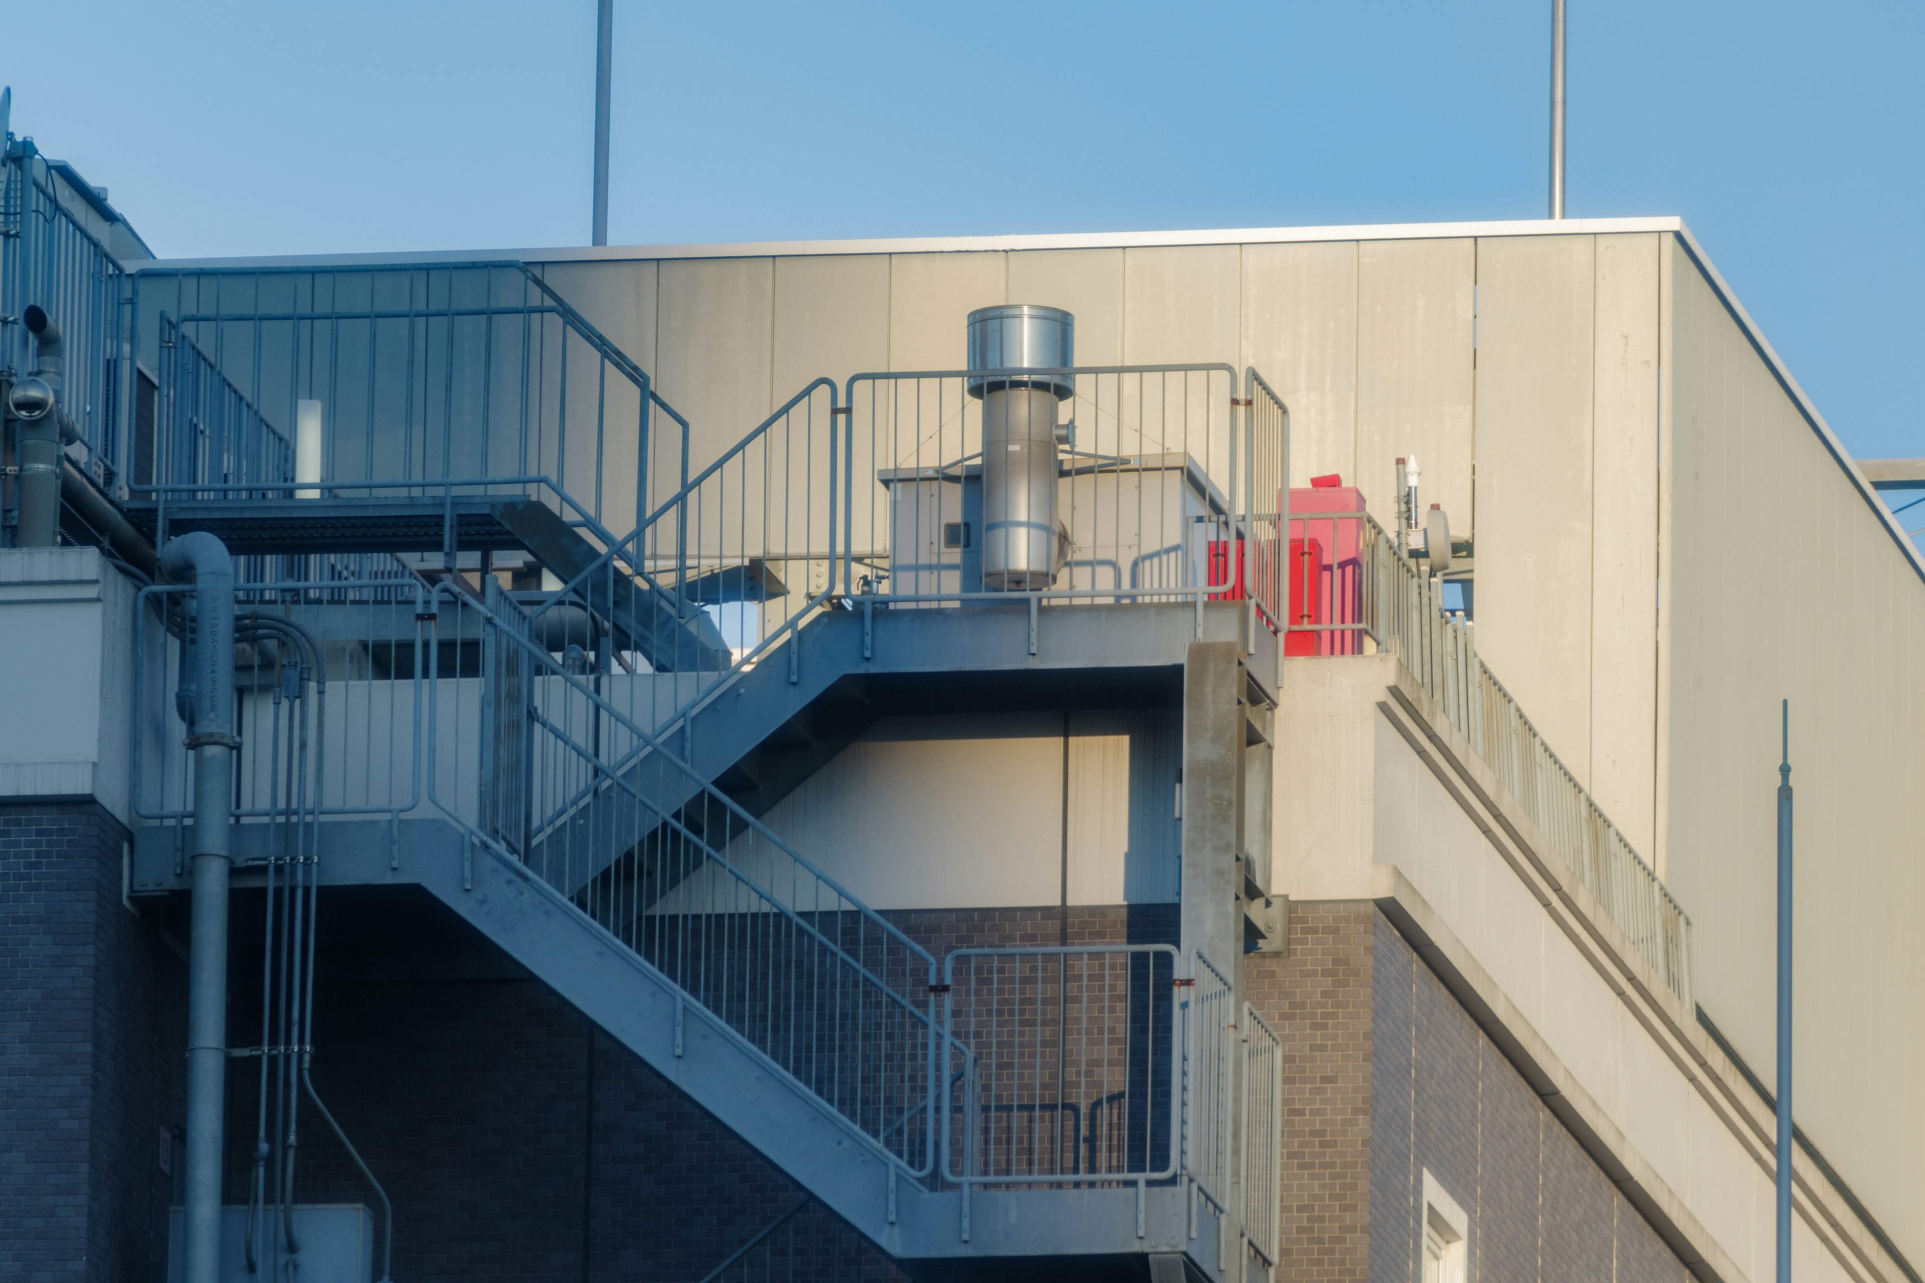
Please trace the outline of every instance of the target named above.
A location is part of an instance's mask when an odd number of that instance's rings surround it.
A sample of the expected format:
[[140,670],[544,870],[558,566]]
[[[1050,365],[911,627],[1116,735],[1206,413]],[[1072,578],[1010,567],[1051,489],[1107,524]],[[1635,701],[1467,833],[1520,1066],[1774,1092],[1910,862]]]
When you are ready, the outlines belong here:
[[235,571],[227,546],[169,539],[160,569],[192,581],[192,944],[187,969],[187,1283],[221,1277],[221,1108],[227,1089],[227,873],[233,821]]

